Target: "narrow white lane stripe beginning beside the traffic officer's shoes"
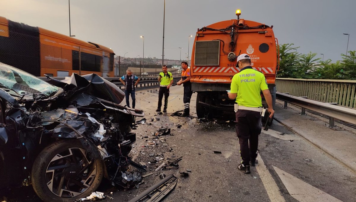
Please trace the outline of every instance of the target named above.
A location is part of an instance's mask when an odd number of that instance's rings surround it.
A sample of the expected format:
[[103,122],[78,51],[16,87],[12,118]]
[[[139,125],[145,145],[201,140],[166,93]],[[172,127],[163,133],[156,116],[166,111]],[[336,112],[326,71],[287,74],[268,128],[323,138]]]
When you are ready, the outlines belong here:
[[269,200],[272,202],[285,202],[286,200],[284,200],[284,197],[279,191],[276,181],[274,181],[271,173],[269,173],[268,169],[266,168],[265,163],[263,163],[263,160],[260,157],[260,153],[258,153],[257,160],[258,164],[256,164],[256,170],[258,175],[260,175],[263,186],[265,186]]

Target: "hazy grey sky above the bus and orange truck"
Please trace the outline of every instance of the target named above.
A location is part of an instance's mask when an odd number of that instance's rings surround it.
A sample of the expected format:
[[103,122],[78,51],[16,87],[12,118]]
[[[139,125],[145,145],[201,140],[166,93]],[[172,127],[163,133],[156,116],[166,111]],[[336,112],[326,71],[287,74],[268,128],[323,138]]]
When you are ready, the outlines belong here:
[[[114,50],[116,55],[162,58],[163,0],[70,0],[71,32],[76,38]],[[340,60],[356,50],[356,0],[166,0],[164,47],[167,59],[182,60],[188,36],[197,28],[240,18],[273,25],[279,43],[294,43],[299,53]],[[68,0],[0,0],[0,16],[69,35]],[[190,39],[191,55],[193,39]]]

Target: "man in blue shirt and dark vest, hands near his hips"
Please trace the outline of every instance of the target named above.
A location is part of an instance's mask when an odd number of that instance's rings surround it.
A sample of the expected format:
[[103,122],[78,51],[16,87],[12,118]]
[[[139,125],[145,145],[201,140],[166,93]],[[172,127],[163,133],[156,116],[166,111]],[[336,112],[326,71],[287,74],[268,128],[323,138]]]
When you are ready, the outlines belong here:
[[[126,105],[130,107],[129,97],[131,94],[132,99],[132,108],[135,109],[136,96],[135,96],[135,86],[140,81],[140,78],[132,74],[130,69],[126,70],[126,75],[120,78],[120,81],[125,86],[125,97],[126,97]],[[135,82],[136,81],[136,82]]]

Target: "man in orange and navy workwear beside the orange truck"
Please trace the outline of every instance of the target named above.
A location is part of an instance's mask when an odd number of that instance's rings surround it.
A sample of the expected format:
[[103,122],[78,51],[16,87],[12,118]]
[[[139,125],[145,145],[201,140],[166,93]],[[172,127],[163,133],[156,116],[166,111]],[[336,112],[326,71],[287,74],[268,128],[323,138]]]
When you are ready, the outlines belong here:
[[180,86],[183,83],[184,87],[184,113],[182,116],[189,116],[189,104],[193,91],[192,83],[190,83],[190,68],[188,68],[187,62],[182,62],[182,69],[182,78],[177,82],[177,85]]

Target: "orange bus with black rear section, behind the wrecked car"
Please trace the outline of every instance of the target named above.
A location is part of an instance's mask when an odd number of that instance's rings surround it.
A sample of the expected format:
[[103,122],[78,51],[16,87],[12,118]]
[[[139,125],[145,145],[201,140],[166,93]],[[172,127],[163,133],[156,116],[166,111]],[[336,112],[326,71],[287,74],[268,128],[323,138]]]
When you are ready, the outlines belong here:
[[[0,62],[35,76],[114,76],[114,51],[0,16]],[[80,64],[80,65],[79,65]]]

